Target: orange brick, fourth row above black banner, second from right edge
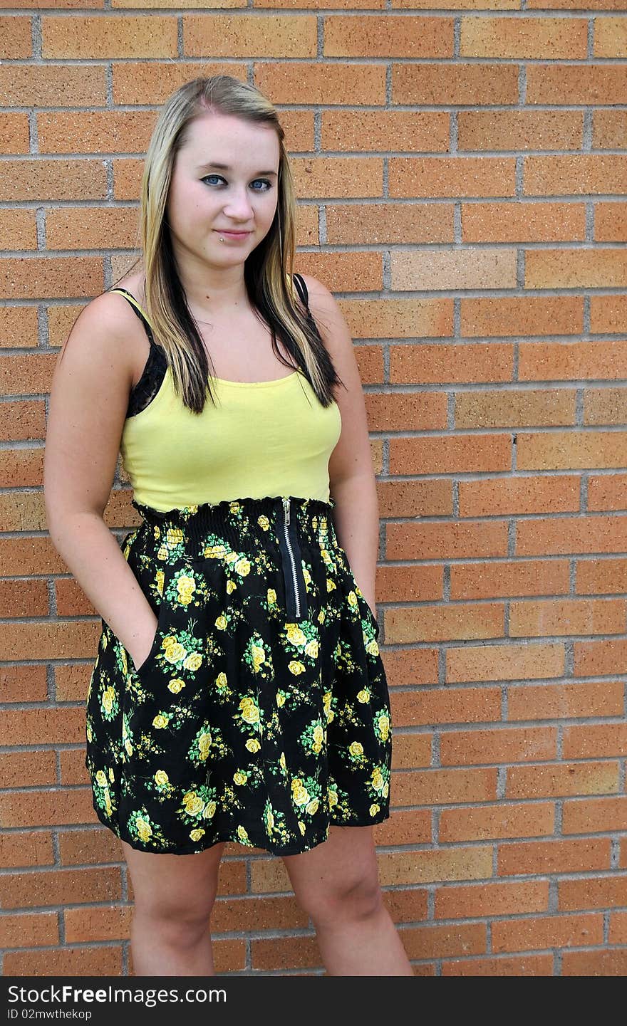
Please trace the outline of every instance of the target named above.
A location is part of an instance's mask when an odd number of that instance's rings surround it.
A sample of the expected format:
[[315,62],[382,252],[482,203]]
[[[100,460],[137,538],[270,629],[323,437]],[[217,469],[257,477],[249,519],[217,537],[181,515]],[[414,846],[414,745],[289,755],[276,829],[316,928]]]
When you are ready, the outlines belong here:
[[525,873],[589,873],[610,869],[610,837],[515,841],[499,845],[499,876]]

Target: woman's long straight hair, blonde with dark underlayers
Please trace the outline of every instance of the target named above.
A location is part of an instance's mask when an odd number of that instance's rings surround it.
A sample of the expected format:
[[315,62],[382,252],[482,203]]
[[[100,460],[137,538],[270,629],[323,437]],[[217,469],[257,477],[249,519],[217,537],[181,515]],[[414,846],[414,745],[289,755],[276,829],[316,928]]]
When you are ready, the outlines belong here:
[[343,383],[315,321],[298,304],[293,290],[297,201],[284,131],[270,101],[256,86],[231,75],[195,78],[169,96],[159,113],[144,165],[138,241],[146,276],[145,307],[155,342],[164,351],[174,390],[197,413],[202,412],[207,395],[214,402],[206,349],[187,304],[165,216],[177,153],[189,139],[192,121],[207,113],[269,125],[277,133],[277,209],[266,237],[244,264],[244,283],[252,309],[270,327],[278,360],[292,365],[280,353],[277,336],[320,403],[328,406],[334,401],[334,387]]

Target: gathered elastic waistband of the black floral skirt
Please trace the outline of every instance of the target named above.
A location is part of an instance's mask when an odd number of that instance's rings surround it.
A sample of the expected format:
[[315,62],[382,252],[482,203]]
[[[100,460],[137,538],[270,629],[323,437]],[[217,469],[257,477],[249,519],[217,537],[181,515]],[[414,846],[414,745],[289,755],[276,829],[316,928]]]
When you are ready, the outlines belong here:
[[272,530],[278,537],[280,528],[288,524],[303,541],[337,544],[331,511],[336,505],[320,499],[303,499],[298,496],[265,496],[261,499],[232,499],[220,503],[200,503],[195,506],[175,507],[162,512],[138,503],[131,505],[147,524],[158,524],[162,531],[178,528],[181,540],[197,555],[207,536],[215,535],[232,545],[241,544],[246,537],[257,539]]

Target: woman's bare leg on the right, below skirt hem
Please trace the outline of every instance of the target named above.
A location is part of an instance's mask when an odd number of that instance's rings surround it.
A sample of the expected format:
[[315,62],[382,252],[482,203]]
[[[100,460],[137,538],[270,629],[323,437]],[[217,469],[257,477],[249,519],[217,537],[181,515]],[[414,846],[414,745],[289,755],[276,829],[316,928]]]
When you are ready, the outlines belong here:
[[383,904],[371,827],[330,827],[328,840],[283,862],[328,976],[414,976]]

